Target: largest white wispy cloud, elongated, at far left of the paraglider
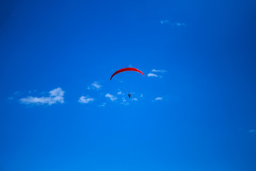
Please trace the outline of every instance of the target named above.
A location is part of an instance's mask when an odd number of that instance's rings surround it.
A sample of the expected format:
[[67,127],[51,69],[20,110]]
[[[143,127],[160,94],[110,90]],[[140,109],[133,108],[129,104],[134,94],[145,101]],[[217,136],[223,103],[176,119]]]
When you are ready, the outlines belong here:
[[20,102],[24,104],[38,104],[38,105],[43,105],[43,104],[48,104],[52,105],[55,103],[64,103],[64,91],[61,90],[61,88],[55,88],[54,90],[49,91],[49,97],[26,97],[26,98],[21,98]]

